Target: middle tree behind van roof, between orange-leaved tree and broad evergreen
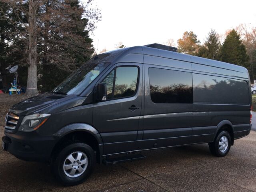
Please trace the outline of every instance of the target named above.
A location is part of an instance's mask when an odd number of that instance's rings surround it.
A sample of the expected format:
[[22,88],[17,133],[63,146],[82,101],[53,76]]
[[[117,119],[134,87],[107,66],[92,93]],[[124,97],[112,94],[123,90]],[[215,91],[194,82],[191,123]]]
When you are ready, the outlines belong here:
[[220,59],[220,38],[215,30],[211,30],[204,44],[198,50],[198,56],[219,60]]

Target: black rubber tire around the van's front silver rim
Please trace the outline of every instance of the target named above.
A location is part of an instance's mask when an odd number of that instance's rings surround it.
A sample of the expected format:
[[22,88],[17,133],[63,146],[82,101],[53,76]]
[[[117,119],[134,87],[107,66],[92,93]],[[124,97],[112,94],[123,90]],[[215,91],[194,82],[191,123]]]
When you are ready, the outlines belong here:
[[[84,165],[84,167],[86,166],[86,168],[81,175],[76,177],[70,177],[64,172],[64,162],[65,163],[67,161],[69,162],[69,160],[66,160],[66,158],[72,153],[74,153],[73,155],[75,155],[76,154],[75,152],[84,153],[87,156],[88,163],[86,163],[87,166],[86,164]],[[76,159],[76,157],[74,158]],[[72,185],[77,185],[84,182],[92,173],[95,163],[96,163],[96,155],[94,153],[94,150],[87,144],[84,144],[81,142],[75,142],[75,143],[68,144],[66,147],[62,148],[62,150],[59,151],[56,158],[52,160],[52,170],[54,172],[54,175],[56,176],[56,178],[61,184],[65,186],[72,186]],[[70,164],[72,164],[72,162],[70,162]],[[79,168],[78,163],[76,164],[76,168],[77,166]],[[71,168],[70,170],[72,171],[72,169],[73,168]],[[79,174],[78,170],[76,170],[76,172]]]

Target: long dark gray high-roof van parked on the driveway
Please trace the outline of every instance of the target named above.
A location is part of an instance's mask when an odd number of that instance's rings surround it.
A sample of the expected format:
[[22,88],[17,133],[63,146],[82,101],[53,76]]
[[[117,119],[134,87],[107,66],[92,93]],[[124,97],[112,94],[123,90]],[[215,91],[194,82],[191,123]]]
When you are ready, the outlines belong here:
[[160,44],[122,48],[12,106],[2,147],[22,160],[50,162],[62,184],[74,185],[96,162],[144,158],[130,152],[208,143],[223,157],[250,133],[251,106],[244,67]]

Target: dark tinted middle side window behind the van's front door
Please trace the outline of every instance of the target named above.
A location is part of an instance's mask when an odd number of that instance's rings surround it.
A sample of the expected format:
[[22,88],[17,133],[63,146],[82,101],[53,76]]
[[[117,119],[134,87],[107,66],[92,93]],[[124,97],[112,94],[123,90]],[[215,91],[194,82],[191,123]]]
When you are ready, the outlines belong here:
[[150,96],[154,103],[192,103],[192,73],[149,68]]

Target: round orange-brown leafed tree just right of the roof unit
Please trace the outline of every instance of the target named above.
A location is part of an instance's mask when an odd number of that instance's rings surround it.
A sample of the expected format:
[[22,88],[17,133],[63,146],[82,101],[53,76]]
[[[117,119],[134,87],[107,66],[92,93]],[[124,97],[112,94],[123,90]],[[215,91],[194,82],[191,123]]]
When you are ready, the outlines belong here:
[[197,39],[197,35],[192,31],[184,32],[182,39],[178,40],[178,52],[196,55],[198,52],[200,41]]

